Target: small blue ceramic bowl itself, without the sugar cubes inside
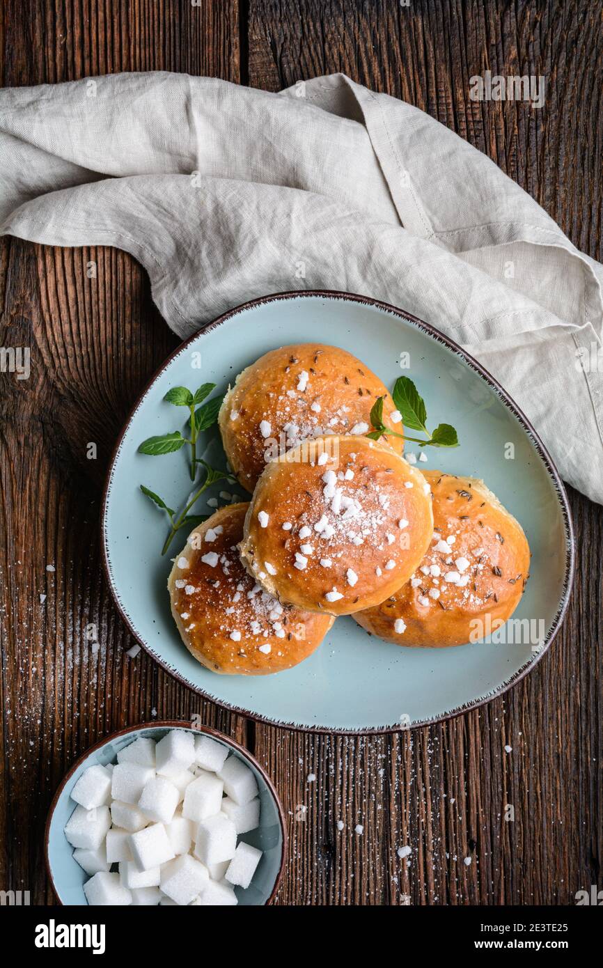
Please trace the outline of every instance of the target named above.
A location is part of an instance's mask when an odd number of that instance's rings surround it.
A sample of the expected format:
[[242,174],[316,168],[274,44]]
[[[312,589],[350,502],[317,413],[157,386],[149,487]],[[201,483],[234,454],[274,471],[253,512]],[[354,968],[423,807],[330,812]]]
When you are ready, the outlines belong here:
[[259,827],[244,834],[246,842],[263,851],[254,879],[247,890],[235,888],[239,904],[261,906],[274,899],[283,875],[286,860],[286,826],[283,806],[268,774],[256,759],[238,742],[209,726],[191,727],[178,721],[142,723],[112,733],[106,740],[97,742],[86,750],[63,777],[56,791],[45,829],[45,861],[52,889],[59,904],[86,905],[83,885],[89,879],[74,860],[74,848],[67,840],[64,829],[75,810],[76,803],[71,792],[76,781],[88,767],[95,764],[106,766],[117,762],[117,753],[138,737],[159,741],[171,729],[184,729],[188,733],[206,733],[212,739],[224,743],[231,753],[244,761],[256,776],[261,803]]

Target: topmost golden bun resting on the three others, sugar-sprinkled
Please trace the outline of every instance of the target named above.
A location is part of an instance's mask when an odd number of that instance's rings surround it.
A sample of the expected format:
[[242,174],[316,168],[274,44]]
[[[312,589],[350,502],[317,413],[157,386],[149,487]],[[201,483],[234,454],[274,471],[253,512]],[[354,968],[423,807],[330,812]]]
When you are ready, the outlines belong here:
[[433,528],[429,485],[391,447],[366,437],[317,438],[266,465],[241,557],[281,601],[349,615],[407,582]]

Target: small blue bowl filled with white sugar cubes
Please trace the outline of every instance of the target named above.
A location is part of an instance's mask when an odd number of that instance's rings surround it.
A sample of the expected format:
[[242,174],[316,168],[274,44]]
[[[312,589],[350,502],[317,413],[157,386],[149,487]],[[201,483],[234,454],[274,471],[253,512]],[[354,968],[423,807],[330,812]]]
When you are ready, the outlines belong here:
[[77,760],[50,804],[48,874],[60,904],[269,904],[286,857],[283,807],[239,743],[156,722]]

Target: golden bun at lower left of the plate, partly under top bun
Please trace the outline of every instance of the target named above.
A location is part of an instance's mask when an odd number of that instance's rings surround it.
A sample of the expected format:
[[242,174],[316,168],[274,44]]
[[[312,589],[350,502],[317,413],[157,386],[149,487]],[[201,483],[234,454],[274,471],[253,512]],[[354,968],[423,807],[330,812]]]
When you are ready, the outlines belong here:
[[[167,589],[182,641],[201,665],[226,675],[265,676],[307,658],[333,620],[283,606],[258,589],[237,550],[248,506],[223,507],[191,531]],[[212,552],[216,563],[202,560]],[[237,633],[235,641],[231,634]]]

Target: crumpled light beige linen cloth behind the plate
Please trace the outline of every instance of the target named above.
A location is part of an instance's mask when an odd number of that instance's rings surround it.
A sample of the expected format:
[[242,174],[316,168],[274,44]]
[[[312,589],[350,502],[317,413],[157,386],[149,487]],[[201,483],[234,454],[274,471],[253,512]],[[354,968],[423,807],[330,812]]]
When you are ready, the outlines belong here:
[[416,107],[343,75],[281,94],[163,73],[8,88],[0,185],[0,233],[126,250],[183,338],[296,288],[407,310],[603,501],[603,266]]

